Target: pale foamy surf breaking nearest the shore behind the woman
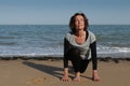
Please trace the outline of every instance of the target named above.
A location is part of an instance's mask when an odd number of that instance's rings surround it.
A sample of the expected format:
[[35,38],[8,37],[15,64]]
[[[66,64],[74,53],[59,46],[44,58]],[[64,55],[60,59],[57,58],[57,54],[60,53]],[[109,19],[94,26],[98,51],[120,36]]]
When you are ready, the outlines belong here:
[[[2,47],[1,47],[2,49]],[[46,57],[46,56],[63,56],[63,47],[3,47],[0,51],[0,57]],[[125,58],[130,57],[130,48],[128,47],[98,47],[98,57]]]

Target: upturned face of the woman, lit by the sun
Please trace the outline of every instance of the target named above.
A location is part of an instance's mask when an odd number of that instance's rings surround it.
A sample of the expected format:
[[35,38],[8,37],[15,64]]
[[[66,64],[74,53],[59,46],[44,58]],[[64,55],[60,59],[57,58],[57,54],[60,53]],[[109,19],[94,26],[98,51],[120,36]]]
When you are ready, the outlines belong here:
[[83,30],[84,29],[84,19],[81,15],[77,15],[75,17],[75,26],[76,26],[76,30]]

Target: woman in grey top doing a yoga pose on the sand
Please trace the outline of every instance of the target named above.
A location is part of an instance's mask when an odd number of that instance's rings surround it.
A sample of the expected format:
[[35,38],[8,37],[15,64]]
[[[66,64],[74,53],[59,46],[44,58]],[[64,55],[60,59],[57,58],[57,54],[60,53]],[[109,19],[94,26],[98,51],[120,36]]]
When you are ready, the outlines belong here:
[[70,17],[70,32],[64,38],[64,76],[63,82],[68,81],[68,60],[72,61],[75,71],[75,82],[80,81],[80,73],[83,73],[90,60],[92,60],[92,78],[100,81],[98,75],[96,39],[88,30],[88,19],[83,13],[76,13]]

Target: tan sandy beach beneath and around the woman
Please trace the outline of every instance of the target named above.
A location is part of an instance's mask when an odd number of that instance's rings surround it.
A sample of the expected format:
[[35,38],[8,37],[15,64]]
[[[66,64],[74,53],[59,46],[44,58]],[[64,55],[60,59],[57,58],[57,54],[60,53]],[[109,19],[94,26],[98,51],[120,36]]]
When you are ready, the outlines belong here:
[[58,59],[0,59],[0,86],[130,86],[130,59],[102,58],[99,62],[101,82],[93,82],[92,63],[74,82],[69,62],[69,81],[62,82],[63,60]]

